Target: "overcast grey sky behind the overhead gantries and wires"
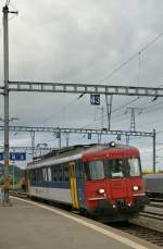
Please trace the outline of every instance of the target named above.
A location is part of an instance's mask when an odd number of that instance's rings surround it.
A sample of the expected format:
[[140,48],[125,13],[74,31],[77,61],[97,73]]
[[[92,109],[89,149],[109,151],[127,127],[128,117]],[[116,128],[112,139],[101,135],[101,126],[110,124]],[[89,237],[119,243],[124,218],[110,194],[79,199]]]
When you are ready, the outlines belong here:
[[[0,0],[0,9],[5,1]],[[11,0],[10,80],[61,82],[128,86],[163,86],[162,0]],[[2,17],[2,12],[1,12]],[[0,24],[0,79],[3,85],[2,23]],[[141,49],[159,37],[155,42]],[[113,73],[134,54],[138,54]],[[101,110],[90,105],[89,96],[11,92],[13,125],[101,128]],[[112,129],[129,130],[130,113],[136,112],[136,129],[156,129],[156,165],[162,166],[163,100],[113,97]],[[104,127],[106,127],[105,101]],[[123,108],[124,107],[124,108]],[[126,114],[125,114],[126,113]],[[0,116],[3,97],[0,96]],[[97,121],[97,122],[95,122]],[[3,136],[0,135],[0,145]],[[11,134],[12,146],[29,146],[29,134]],[[115,139],[104,137],[103,141]],[[97,138],[71,135],[71,144],[95,142]],[[122,140],[125,142],[125,138]],[[36,144],[57,147],[52,134],[36,135]],[[62,140],[65,146],[65,137]],[[152,139],[130,138],[140,148],[143,167],[152,166]],[[163,167],[163,166],[162,166]]]

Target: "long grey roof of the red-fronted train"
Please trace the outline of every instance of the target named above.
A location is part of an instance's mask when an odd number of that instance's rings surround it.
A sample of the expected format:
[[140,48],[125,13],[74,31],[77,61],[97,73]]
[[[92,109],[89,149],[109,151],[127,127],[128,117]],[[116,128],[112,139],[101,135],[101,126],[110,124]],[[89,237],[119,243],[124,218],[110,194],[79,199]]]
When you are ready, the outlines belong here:
[[[112,141],[113,142],[113,141]],[[65,162],[68,160],[76,160],[82,158],[82,154],[89,153],[89,152],[98,152],[102,150],[109,150],[109,149],[136,149],[131,146],[126,146],[122,144],[115,144],[115,146],[111,146],[112,142],[109,144],[89,144],[89,145],[75,145],[71,147],[64,147],[61,149],[54,149],[50,151],[47,154],[34,158],[33,162],[29,162],[26,166],[26,169],[32,167],[38,167],[38,166],[45,166],[46,163],[52,164],[53,161],[59,162]]]

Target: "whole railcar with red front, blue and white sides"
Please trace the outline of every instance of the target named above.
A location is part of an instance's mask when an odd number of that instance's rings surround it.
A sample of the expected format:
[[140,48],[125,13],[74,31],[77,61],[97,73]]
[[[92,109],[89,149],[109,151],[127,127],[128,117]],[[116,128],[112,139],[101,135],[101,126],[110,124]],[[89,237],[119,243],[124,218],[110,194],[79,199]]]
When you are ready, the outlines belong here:
[[114,141],[54,150],[27,164],[26,180],[29,197],[105,222],[128,220],[148,203],[139,150]]

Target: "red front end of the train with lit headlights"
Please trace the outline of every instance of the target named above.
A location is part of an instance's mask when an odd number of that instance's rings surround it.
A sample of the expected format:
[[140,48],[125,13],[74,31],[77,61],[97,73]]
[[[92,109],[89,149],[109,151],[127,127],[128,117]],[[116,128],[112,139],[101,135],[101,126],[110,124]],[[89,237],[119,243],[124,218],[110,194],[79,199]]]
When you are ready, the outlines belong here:
[[136,216],[148,203],[138,149],[111,144],[84,154],[87,210],[105,222]]

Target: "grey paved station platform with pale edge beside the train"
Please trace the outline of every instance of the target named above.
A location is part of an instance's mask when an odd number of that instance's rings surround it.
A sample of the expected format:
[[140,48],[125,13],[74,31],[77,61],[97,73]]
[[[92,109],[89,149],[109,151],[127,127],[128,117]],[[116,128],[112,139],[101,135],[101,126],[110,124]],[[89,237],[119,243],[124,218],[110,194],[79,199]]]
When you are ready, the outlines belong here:
[[60,209],[12,198],[0,207],[1,249],[154,249],[154,245]]

